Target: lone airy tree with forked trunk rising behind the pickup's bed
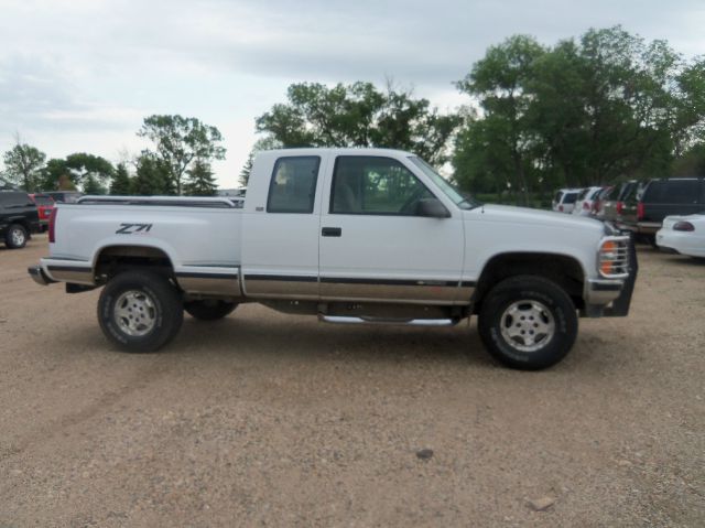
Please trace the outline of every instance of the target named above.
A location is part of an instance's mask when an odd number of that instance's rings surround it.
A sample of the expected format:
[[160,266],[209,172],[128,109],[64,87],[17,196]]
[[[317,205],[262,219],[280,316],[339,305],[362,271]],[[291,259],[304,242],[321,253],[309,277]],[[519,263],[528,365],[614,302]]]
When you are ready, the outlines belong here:
[[225,158],[220,131],[196,118],[150,116],[138,136],[154,142],[155,155],[169,166],[169,176],[180,195],[184,174],[195,160],[210,162]]

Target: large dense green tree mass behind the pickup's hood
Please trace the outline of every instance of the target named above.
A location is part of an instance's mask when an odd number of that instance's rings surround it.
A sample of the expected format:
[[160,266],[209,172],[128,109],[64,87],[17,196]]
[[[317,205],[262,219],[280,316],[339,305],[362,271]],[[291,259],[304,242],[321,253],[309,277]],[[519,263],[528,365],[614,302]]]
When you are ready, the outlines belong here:
[[512,36],[457,85],[479,104],[454,154],[463,188],[528,195],[668,175],[705,133],[705,62],[621,28],[552,49]]

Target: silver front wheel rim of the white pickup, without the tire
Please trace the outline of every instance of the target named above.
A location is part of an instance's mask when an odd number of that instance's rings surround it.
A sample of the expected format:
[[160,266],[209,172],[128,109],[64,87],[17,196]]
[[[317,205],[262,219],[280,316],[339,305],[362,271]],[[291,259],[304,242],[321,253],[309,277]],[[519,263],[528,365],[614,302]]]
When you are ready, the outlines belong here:
[[540,301],[511,303],[500,319],[505,341],[520,352],[536,352],[555,335],[555,320],[551,310]]

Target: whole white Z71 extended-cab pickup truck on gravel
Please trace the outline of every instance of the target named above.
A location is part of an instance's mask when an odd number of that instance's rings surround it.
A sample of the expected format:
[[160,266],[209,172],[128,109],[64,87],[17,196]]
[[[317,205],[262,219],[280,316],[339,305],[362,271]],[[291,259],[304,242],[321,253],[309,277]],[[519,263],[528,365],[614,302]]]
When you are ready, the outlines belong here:
[[212,321],[260,302],[330,323],[477,314],[492,356],[539,369],[568,353],[578,315],[628,313],[637,261],[608,224],[478,204],[409,152],[295,149],[260,153],[245,200],[57,204],[50,256],[29,271],[104,287],[100,326],[128,352],[166,344],[184,311]]

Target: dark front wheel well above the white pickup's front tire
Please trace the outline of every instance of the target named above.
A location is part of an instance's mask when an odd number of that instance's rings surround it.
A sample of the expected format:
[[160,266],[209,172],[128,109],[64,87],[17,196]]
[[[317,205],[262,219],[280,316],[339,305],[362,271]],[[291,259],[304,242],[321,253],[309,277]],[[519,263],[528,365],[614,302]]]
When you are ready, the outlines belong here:
[[567,292],[576,309],[585,305],[583,300],[585,276],[576,259],[551,254],[502,254],[492,257],[485,265],[475,290],[473,313],[479,313],[482,299],[495,284],[518,274],[533,274],[549,279]]

